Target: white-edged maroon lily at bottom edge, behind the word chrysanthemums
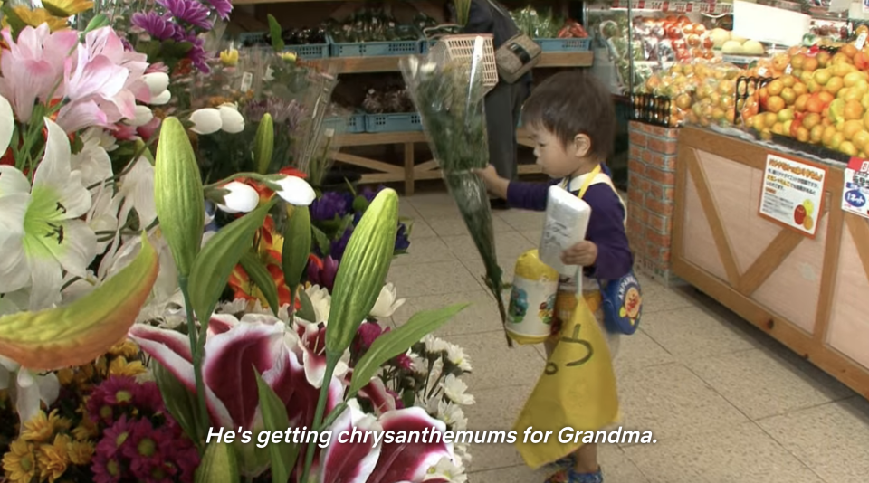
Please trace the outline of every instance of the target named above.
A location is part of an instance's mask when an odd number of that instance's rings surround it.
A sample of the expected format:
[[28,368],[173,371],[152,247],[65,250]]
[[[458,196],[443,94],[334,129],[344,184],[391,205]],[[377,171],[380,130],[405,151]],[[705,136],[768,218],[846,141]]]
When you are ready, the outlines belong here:
[[[354,429],[363,433],[368,431],[368,441],[351,440],[349,435]],[[330,431],[331,442],[320,455],[319,483],[448,481],[432,478],[428,473],[441,459],[454,459],[453,444],[443,440],[446,424],[435,420],[422,408],[389,411],[375,419],[362,412],[358,403],[351,400]],[[397,434],[413,434],[412,431],[427,436],[425,439],[414,436],[407,439],[409,442],[396,442]],[[393,433],[392,440],[382,439],[377,445],[372,444],[374,433],[381,433],[383,437],[382,433],[389,432]],[[439,437],[433,438],[435,433],[439,433]]]

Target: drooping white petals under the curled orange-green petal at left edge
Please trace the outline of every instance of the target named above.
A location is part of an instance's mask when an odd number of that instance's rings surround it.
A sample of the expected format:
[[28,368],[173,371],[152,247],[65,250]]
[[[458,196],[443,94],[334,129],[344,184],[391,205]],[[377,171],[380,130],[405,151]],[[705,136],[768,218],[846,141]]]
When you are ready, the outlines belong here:
[[57,401],[61,384],[54,373],[35,373],[0,355],[0,390],[4,389],[15,394],[15,411],[24,427],[39,412],[40,402],[49,406]]

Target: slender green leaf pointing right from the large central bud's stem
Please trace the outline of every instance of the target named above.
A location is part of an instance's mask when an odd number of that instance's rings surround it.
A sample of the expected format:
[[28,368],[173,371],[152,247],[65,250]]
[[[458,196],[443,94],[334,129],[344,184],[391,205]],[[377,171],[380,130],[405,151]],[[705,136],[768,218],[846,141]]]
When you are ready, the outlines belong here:
[[380,366],[389,359],[406,353],[407,349],[422,340],[423,337],[435,332],[438,327],[443,326],[447,320],[453,318],[469,305],[467,303],[455,304],[446,308],[419,312],[414,317],[410,317],[405,325],[377,337],[374,344],[353,369],[353,379],[350,381],[347,399],[368,385],[371,378],[377,374]]

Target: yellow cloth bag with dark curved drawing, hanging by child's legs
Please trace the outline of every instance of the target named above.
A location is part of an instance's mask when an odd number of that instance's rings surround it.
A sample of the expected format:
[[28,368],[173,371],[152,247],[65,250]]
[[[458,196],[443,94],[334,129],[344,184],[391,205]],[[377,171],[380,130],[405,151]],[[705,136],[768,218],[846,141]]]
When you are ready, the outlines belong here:
[[[577,308],[559,333],[559,344],[534,387],[514,426],[516,446],[532,469],[561,459],[582,446],[578,431],[600,431],[618,420],[616,374],[606,338],[589,303],[599,298],[578,297]],[[545,440],[528,438],[526,429],[543,431]],[[559,432],[564,428],[559,441]],[[551,432],[549,432],[551,431]],[[576,441],[576,442],[575,442]]]

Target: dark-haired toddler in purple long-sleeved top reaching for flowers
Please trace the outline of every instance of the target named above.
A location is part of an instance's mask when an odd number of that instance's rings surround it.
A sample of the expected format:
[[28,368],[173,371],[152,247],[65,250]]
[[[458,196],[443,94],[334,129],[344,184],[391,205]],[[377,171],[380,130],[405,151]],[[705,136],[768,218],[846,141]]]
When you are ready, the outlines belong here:
[[[578,195],[588,178],[597,176],[597,183],[588,185],[582,196],[591,206],[586,239],[565,250],[561,260],[582,267],[582,296],[595,313],[610,353],[615,356],[618,336],[604,327],[597,279],[606,282],[624,277],[634,265],[634,256],[625,233],[625,204],[602,167],[612,153],[616,136],[616,111],[610,94],[585,71],[561,72],[531,92],[522,108],[522,125],[534,140],[538,164],[553,180],[548,184],[511,181],[501,178],[492,166],[477,173],[489,191],[506,199],[511,207],[535,211],[546,210],[550,185],[560,184]],[[556,306],[561,321],[567,321],[576,307],[576,283],[571,278],[559,280]],[[557,343],[556,338],[549,339],[548,354]],[[594,444],[585,444],[556,463],[560,469],[548,483],[603,481]]]

